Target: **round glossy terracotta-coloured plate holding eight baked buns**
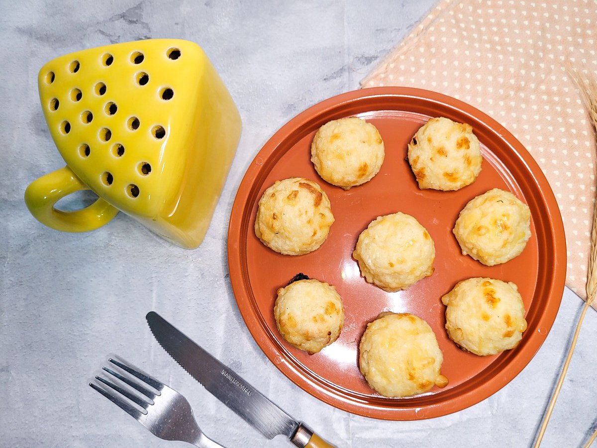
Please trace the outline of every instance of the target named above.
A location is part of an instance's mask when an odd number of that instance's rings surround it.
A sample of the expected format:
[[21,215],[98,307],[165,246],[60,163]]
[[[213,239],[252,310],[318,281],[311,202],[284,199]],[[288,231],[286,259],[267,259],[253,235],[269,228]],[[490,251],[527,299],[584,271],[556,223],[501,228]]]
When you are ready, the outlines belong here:
[[[310,162],[315,131],[326,122],[358,116],[376,125],[386,157],[370,182],[344,191],[322,180]],[[420,190],[406,160],[407,143],[429,118],[446,116],[472,125],[484,157],[478,179],[459,191]],[[306,177],[321,185],[336,222],[325,243],[301,256],[278,254],[255,236],[257,203],[276,180]],[[452,228],[460,210],[491,188],[513,192],[531,209],[531,239],[503,265],[484,266],[463,256]],[[435,272],[414,286],[386,293],[361,277],[352,258],[359,234],[377,216],[402,211],[423,225],[435,242]],[[564,227],[547,180],[533,158],[506,129],[456,99],[414,88],[353,91],[300,113],[261,149],[239,187],[228,231],[230,281],[251,335],[284,375],[328,404],[373,418],[410,420],[445,415],[478,403],[512,380],[533,358],[558,312],[565,280]],[[336,286],[346,318],[338,340],[308,355],[276,329],[276,290],[298,272]],[[518,285],[527,310],[519,345],[490,357],[466,353],[448,339],[441,296],[465,278],[491,277]],[[429,323],[444,352],[441,372],[450,383],[416,397],[385,398],[358,367],[358,345],[380,312],[410,312]]]

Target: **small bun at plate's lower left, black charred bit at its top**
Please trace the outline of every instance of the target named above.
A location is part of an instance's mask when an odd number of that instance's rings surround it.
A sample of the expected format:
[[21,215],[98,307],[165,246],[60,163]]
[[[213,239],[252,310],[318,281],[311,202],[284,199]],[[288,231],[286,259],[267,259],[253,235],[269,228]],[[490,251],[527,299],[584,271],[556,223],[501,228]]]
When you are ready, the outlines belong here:
[[315,279],[278,289],[273,315],[284,339],[310,355],[338,339],[344,324],[336,287]]

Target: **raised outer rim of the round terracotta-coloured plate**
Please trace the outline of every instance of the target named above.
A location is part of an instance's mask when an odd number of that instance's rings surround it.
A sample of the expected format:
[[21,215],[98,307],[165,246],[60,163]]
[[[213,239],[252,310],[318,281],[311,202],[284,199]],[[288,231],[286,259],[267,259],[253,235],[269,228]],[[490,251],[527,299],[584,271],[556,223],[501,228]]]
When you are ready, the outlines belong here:
[[[552,268],[553,275],[550,277],[550,281],[543,284],[544,297],[546,298],[541,301],[543,312],[537,323],[537,332],[531,334],[525,333],[524,348],[515,349],[510,352],[507,355],[507,361],[493,363],[487,367],[487,369],[491,370],[501,366],[501,369],[493,373],[493,378],[490,381],[475,382],[473,378],[466,389],[452,389],[447,394],[444,394],[442,400],[436,400],[437,403],[433,404],[418,403],[417,397],[410,399],[387,399],[381,397],[377,401],[370,398],[361,400],[356,395],[344,394],[340,388],[336,388],[334,383],[329,380],[316,379],[315,375],[310,375],[310,371],[306,367],[299,365],[300,362],[284,349],[284,347],[279,345],[275,340],[276,336],[273,335],[272,330],[263,323],[256,309],[251,306],[250,278],[248,278],[247,269],[244,268],[245,247],[243,242],[246,241],[248,232],[252,231],[252,229],[248,229],[247,225],[243,225],[244,216],[247,214],[245,208],[251,207],[252,209],[253,207],[250,198],[255,194],[256,183],[259,183],[256,180],[260,172],[263,172],[263,170],[269,172],[268,167],[273,166],[283,156],[283,154],[276,154],[276,150],[278,150],[282,143],[287,142],[290,138],[294,138],[294,134],[313,119],[330,113],[334,109],[342,109],[344,111],[344,109],[353,108],[353,113],[367,112],[367,109],[359,110],[361,103],[368,100],[375,101],[392,98],[433,102],[442,108],[449,108],[469,116],[471,121],[481,122],[485,127],[493,131],[496,139],[501,139],[505,145],[512,149],[513,156],[517,159],[517,162],[522,164],[527,174],[530,175],[530,179],[527,179],[527,181],[531,182],[534,188],[537,189],[538,194],[540,194],[541,204],[544,207],[543,211],[549,220],[550,233],[547,235],[545,242],[548,243],[547,246],[549,244],[553,245],[553,260],[544,262],[544,264],[547,263],[547,266]],[[341,116],[345,115],[350,114],[344,111]],[[239,186],[230,214],[227,255],[230,282],[232,283],[232,290],[239,311],[251,335],[264,354],[272,361],[272,364],[301,389],[325,403],[357,415],[386,420],[427,419],[457,412],[490,397],[490,395],[493,395],[512,381],[527,366],[546,339],[553,321],[555,321],[558,314],[566,274],[566,244],[564,225],[559,207],[552,189],[549,183],[547,183],[546,177],[524,146],[496,120],[478,109],[467,105],[467,103],[433,91],[410,87],[365,88],[331,97],[299,113],[273,134],[253,159]],[[425,398],[424,395],[423,398]],[[398,404],[399,406],[397,406]]]

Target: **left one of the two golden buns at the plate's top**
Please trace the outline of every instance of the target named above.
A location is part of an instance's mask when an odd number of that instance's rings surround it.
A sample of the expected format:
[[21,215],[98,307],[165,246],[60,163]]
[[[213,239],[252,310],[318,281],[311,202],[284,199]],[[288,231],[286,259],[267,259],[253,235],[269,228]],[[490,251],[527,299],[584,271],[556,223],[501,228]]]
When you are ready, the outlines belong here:
[[345,190],[370,181],[383,163],[377,128],[356,117],[324,124],[311,143],[311,161],[325,182]]

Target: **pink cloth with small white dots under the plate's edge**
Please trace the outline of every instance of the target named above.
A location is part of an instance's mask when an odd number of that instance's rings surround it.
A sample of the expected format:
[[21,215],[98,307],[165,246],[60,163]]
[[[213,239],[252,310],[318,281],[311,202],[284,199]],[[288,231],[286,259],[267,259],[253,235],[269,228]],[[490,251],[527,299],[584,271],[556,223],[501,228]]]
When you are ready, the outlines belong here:
[[[440,0],[361,81],[456,97],[527,148],[564,220],[567,286],[586,297],[595,200],[595,133],[564,67],[597,79],[596,0]],[[597,309],[597,301],[593,304]]]

